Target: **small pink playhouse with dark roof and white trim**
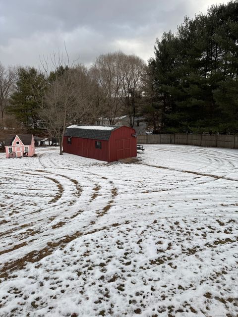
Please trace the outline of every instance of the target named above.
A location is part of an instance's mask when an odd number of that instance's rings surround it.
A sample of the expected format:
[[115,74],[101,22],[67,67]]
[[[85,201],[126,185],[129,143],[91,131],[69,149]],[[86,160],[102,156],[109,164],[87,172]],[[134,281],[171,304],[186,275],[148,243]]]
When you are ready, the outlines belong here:
[[9,135],[5,140],[6,158],[32,157],[35,141],[32,134]]

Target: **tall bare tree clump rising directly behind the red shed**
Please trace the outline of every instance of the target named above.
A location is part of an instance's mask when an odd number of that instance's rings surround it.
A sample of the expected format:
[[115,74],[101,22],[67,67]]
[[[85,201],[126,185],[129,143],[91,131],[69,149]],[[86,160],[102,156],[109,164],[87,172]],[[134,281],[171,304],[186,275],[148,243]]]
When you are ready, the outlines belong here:
[[146,63],[138,56],[122,52],[100,55],[91,69],[104,93],[104,111],[110,124],[123,113],[134,126],[135,110],[144,90]]

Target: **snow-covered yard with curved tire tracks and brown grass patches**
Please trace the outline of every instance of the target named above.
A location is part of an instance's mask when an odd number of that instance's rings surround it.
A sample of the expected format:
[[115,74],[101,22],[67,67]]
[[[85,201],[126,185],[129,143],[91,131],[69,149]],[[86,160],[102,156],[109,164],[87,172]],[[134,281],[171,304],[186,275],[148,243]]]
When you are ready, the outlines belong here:
[[238,150],[0,154],[0,316],[238,316]]

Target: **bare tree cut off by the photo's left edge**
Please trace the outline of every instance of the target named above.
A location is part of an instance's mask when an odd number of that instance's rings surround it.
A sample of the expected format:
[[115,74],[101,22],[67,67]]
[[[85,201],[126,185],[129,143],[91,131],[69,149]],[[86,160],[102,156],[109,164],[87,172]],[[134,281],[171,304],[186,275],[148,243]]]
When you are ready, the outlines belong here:
[[3,120],[4,110],[7,107],[8,98],[12,92],[16,78],[16,72],[13,67],[5,68],[0,63],[0,111],[1,121]]

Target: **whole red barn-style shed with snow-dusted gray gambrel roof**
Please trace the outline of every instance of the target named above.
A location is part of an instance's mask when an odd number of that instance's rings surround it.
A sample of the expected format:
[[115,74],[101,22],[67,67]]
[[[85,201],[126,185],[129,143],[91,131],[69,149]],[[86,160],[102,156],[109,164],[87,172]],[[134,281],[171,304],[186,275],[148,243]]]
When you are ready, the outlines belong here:
[[126,126],[71,125],[63,137],[63,151],[108,162],[136,157],[135,130]]

